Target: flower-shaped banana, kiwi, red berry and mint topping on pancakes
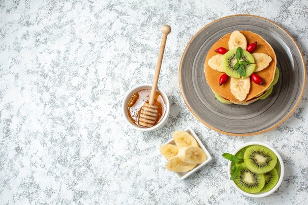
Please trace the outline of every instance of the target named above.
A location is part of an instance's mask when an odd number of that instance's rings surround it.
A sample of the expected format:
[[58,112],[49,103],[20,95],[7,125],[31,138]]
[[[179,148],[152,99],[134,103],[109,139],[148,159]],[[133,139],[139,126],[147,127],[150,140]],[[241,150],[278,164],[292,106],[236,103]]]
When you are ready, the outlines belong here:
[[[217,48],[218,54],[209,59],[208,65],[212,69],[224,72],[231,77],[231,93],[239,101],[245,102],[250,89],[249,76],[254,72],[266,69],[272,58],[264,53],[252,53],[256,49],[257,42],[249,44],[249,48],[247,48],[246,37],[238,30],[231,33],[228,46],[228,52],[225,52],[227,51],[225,48]],[[219,79],[219,85],[227,81],[228,77],[225,74],[221,75],[223,78]],[[252,81],[261,85],[262,79],[256,74],[253,76]]]

